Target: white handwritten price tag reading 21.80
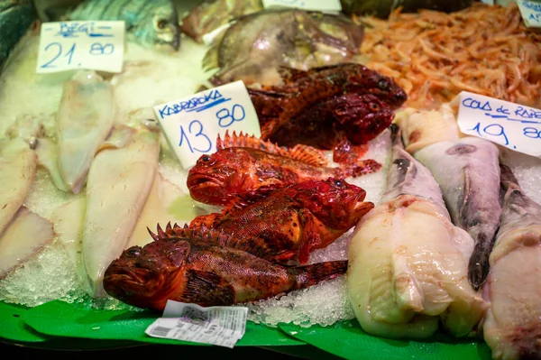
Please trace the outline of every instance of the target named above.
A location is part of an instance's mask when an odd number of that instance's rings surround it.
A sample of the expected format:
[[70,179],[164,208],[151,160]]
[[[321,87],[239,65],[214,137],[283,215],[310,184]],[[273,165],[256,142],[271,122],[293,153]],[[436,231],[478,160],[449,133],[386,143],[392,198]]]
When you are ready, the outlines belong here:
[[42,23],[38,73],[69,69],[121,72],[124,22]]

